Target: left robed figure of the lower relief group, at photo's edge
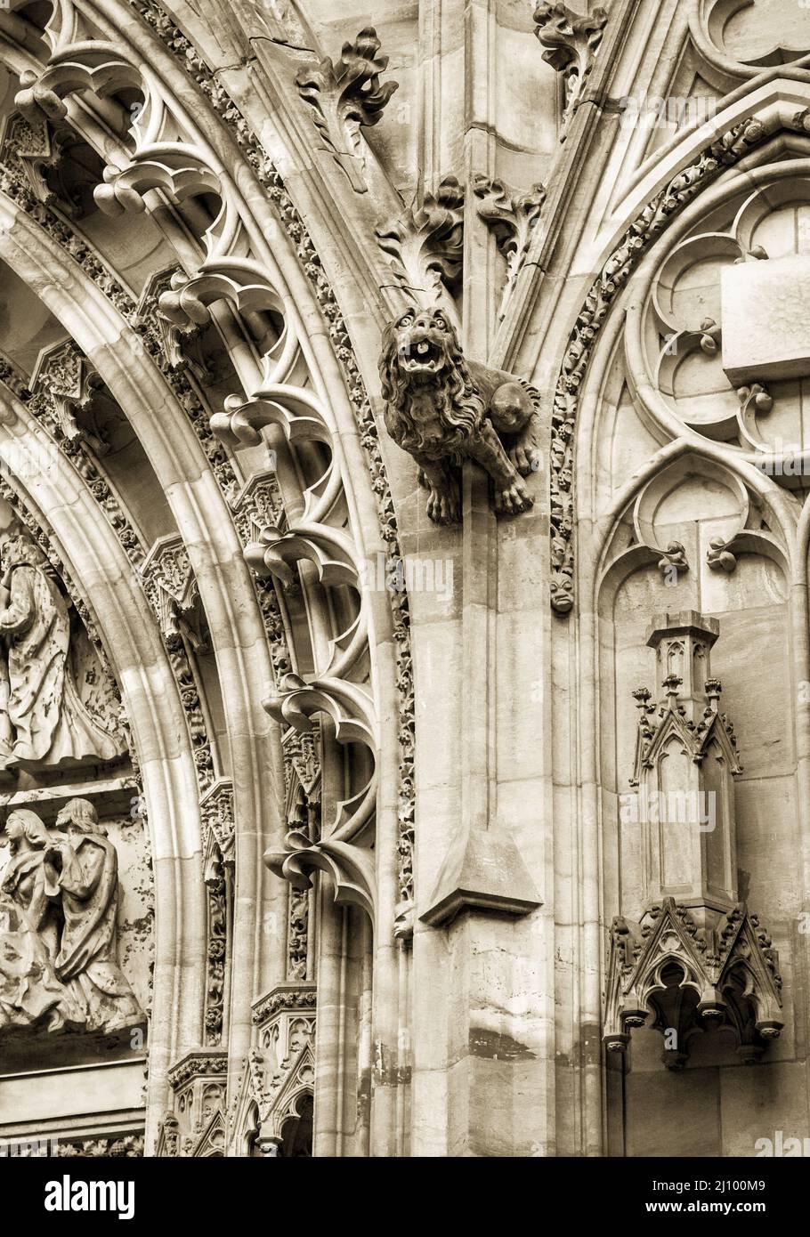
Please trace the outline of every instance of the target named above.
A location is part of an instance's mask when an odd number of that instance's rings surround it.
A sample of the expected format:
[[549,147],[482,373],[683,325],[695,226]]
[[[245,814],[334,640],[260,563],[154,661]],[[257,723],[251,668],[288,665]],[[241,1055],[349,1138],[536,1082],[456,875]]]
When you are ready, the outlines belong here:
[[84,1016],[53,969],[59,922],[51,835],[33,811],[6,823],[10,860],[0,883],[0,1030],[46,1025],[61,1030]]

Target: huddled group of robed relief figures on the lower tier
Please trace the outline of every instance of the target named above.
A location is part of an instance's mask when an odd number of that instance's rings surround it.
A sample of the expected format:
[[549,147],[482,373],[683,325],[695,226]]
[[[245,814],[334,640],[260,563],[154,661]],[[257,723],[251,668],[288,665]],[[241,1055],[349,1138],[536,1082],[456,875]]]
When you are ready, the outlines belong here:
[[6,821],[0,876],[0,1034],[9,1028],[114,1032],[145,1016],[116,957],[117,855],[93,804],[70,799],[53,830]]

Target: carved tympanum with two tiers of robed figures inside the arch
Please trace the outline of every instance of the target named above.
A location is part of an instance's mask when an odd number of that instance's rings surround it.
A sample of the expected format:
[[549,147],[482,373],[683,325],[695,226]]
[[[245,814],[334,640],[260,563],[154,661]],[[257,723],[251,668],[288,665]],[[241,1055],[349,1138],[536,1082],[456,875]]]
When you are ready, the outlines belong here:
[[142,1054],[152,870],[117,687],[48,550],[0,503],[4,1072]]

